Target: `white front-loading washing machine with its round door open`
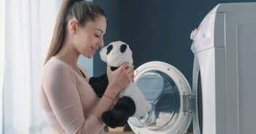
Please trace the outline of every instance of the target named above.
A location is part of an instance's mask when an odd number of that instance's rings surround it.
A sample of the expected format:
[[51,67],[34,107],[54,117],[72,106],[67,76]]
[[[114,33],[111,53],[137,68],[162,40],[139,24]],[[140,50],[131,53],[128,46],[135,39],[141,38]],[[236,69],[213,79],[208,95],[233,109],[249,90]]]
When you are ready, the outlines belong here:
[[193,90],[177,68],[147,62],[136,84],[152,104],[136,134],[256,133],[256,3],[218,4],[192,35]]

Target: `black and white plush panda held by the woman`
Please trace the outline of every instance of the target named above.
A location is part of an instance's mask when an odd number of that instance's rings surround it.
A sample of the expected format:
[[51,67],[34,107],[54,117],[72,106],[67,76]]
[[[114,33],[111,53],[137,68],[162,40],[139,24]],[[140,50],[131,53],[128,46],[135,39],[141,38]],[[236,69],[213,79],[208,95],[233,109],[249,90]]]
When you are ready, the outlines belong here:
[[[111,70],[116,70],[124,62],[133,65],[132,51],[123,41],[109,43],[101,49],[100,56],[111,67]],[[106,73],[98,78],[90,78],[89,83],[98,97],[103,96],[108,85]],[[129,117],[136,117],[139,120],[150,110],[151,105],[139,88],[134,83],[130,83],[120,93],[114,108],[104,112],[101,118],[107,126],[115,128],[125,125]]]

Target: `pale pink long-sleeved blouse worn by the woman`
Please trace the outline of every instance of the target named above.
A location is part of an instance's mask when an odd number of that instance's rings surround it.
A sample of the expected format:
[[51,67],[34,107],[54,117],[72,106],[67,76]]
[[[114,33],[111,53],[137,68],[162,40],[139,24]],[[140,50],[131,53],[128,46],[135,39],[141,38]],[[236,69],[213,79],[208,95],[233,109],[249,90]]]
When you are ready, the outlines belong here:
[[58,134],[102,134],[104,123],[92,114],[100,99],[77,72],[54,56],[44,65],[39,98]]

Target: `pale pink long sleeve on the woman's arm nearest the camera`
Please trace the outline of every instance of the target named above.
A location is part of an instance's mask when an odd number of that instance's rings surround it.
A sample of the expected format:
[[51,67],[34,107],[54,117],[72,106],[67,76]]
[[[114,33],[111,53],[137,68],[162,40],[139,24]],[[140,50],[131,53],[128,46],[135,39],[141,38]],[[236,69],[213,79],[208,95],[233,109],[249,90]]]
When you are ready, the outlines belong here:
[[[104,125],[90,114],[86,119],[74,74],[62,64],[48,64],[42,87],[56,119],[68,134],[98,134]],[[90,95],[88,95],[90,96]]]

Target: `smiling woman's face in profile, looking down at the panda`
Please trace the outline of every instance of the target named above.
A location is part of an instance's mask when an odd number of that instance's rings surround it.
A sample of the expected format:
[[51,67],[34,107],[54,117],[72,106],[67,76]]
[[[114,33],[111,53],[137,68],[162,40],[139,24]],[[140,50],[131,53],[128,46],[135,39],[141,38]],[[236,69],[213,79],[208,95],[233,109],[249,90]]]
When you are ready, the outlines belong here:
[[103,37],[106,33],[106,18],[99,15],[94,21],[88,21],[77,28],[74,48],[79,54],[91,58],[98,47],[104,46]]

